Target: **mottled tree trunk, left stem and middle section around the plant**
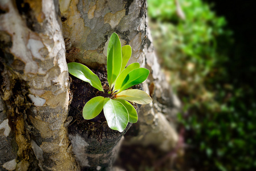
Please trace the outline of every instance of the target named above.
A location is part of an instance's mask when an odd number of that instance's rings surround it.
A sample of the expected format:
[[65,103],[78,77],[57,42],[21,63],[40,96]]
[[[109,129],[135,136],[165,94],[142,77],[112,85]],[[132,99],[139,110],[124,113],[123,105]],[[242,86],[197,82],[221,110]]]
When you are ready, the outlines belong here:
[[121,44],[132,47],[129,63],[143,66],[145,9],[138,0],[0,2],[1,170],[111,169],[131,125],[122,133],[104,121],[100,134],[95,127],[79,129],[84,121],[72,107],[68,117],[66,60],[99,68],[117,32]]

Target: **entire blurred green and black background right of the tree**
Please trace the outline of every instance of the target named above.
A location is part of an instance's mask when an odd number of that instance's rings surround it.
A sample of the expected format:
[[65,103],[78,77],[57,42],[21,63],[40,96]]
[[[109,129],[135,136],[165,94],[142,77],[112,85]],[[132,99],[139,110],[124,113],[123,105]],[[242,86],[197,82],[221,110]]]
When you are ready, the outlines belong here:
[[[148,0],[153,44],[182,103],[177,132],[184,143],[128,170],[256,169],[255,5]],[[159,154],[151,153],[144,156]]]

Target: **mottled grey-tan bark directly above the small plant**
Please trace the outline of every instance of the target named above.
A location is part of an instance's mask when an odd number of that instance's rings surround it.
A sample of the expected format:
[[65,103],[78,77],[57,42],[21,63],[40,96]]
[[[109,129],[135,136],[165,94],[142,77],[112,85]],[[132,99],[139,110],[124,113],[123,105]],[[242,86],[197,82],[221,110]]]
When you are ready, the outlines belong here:
[[60,1],[67,60],[96,68],[107,62],[107,44],[113,32],[122,46],[132,47],[129,63],[142,64],[145,45],[146,1]]

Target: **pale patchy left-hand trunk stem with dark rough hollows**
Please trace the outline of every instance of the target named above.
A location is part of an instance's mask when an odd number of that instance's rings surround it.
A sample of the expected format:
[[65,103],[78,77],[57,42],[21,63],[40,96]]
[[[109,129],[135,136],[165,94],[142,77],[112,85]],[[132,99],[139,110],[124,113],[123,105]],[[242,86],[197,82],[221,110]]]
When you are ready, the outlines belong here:
[[[68,71],[58,1],[6,0],[0,9],[1,136],[15,137],[7,146],[17,150],[8,162],[17,170],[78,170],[65,125]],[[1,168],[13,170],[7,158]]]

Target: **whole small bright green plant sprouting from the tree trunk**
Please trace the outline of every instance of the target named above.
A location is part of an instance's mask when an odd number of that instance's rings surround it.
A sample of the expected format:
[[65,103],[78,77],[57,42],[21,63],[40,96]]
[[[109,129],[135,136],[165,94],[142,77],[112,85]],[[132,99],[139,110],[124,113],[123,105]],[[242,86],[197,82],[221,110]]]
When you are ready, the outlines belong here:
[[138,120],[136,109],[128,101],[138,104],[152,102],[146,92],[139,89],[127,89],[144,82],[149,75],[149,70],[140,68],[139,63],[132,63],[125,68],[131,55],[131,46],[121,47],[119,37],[114,32],[108,43],[107,79],[109,89],[105,92],[100,79],[88,67],[76,62],[67,64],[68,72],[71,75],[104,92],[103,96],[96,96],[84,105],[84,119],[93,119],[103,109],[108,127],[123,132],[128,122],[136,123]]

